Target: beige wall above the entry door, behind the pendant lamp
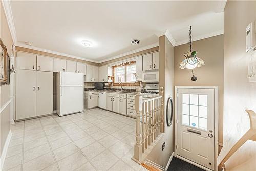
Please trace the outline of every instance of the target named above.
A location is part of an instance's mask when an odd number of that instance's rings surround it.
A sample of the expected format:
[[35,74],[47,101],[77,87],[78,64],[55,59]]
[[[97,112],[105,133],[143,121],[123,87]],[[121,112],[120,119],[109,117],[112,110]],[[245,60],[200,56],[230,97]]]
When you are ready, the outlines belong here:
[[192,50],[202,58],[205,66],[196,68],[197,81],[191,81],[191,70],[179,69],[189,51],[189,44],[174,47],[174,85],[175,86],[218,86],[219,87],[219,142],[223,142],[223,35],[192,42]]

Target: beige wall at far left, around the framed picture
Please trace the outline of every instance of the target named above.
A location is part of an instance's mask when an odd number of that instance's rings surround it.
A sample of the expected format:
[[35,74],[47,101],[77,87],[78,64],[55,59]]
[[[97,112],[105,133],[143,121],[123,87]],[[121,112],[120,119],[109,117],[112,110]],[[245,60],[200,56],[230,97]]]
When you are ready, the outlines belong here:
[[[0,4],[0,37],[7,47],[8,53],[12,53],[11,45],[13,44],[10,30],[7,24],[7,20],[4,14],[4,10],[2,4]],[[9,85],[0,85],[0,108],[3,109],[3,106],[10,100],[10,86]],[[10,131],[10,104],[3,109],[0,113],[0,124],[1,124],[1,131],[0,131],[0,139],[1,139],[1,150],[0,155],[2,155],[3,147],[5,145],[6,138]]]

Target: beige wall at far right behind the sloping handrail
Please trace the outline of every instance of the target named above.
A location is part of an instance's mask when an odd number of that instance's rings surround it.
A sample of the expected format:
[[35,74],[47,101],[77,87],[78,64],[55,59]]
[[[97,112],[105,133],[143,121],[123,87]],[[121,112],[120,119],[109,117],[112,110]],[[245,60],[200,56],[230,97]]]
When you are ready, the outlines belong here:
[[[227,1],[224,10],[224,148],[231,147],[246,131],[245,109],[256,112],[256,83],[249,83],[246,78],[250,53],[245,51],[245,29],[255,20],[256,1]],[[227,170],[256,170],[256,142],[247,141],[225,165]]]

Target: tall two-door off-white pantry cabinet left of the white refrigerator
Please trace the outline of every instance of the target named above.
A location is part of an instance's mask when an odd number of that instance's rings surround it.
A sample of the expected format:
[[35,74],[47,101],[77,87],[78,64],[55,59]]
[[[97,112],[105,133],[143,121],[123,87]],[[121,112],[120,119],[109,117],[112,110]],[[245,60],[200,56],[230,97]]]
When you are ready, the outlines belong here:
[[53,112],[53,73],[17,69],[16,120]]

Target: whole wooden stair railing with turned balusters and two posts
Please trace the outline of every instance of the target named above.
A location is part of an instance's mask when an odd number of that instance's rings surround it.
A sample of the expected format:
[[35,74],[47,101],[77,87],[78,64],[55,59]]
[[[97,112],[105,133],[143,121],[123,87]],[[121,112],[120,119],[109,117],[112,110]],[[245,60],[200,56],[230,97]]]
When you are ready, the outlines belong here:
[[160,87],[159,96],[142,98],[141,88],[136,89],[136,143],[134,145],[133,160],[141,164],[164,132],[163,122],[163,87]]

